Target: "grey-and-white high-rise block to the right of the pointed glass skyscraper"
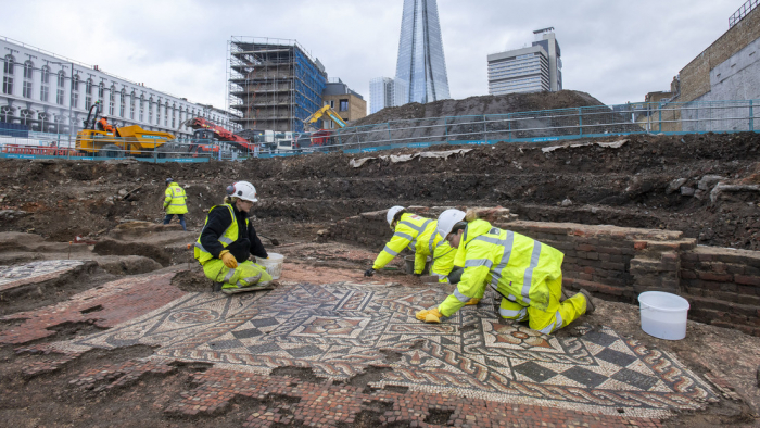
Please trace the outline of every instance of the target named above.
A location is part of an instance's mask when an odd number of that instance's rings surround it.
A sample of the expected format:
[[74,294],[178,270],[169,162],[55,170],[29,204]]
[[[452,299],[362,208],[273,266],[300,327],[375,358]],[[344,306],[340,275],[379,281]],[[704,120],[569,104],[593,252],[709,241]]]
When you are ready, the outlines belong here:
[[533,32],[529,48],[487,56],[489,93],[524,93],[562,90],[562,60],[554,28]]

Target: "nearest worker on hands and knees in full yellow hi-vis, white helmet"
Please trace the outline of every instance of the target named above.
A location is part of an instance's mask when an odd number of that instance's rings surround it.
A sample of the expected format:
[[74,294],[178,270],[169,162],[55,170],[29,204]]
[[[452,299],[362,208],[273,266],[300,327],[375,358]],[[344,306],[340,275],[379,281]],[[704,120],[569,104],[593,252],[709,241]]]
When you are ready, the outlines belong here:
[[472,211],[444,211],[439,232],[457,248],[457,262],[465,270],[454,293],[438,307],[420,311],[417,319],[440,323],[471,299],[481,299],[486,286],[502,294],[499,315],[528,320],[530,328],[552,333],[584,313],[594,312],[586,290],[562,300],[562,259],[558,250],[478,219]]

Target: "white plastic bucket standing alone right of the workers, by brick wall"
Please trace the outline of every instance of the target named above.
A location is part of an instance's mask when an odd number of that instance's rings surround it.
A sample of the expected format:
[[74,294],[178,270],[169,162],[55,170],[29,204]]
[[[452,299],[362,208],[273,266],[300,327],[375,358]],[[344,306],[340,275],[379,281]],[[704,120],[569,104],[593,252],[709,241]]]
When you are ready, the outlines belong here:
[[646,291],[638,294],[638,304],[644,332],[667,340],[686,337],[686,299],[662,291]]

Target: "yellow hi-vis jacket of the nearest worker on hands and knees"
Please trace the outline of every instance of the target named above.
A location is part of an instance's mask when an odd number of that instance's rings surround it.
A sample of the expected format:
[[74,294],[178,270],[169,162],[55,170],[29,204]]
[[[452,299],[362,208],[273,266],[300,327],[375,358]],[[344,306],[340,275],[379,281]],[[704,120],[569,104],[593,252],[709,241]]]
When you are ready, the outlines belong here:
[[456,259],[455,264],[464,260],[465,272],[454,293],[439,305],[444,316],[459,311],[471,298],[481,297],[487,285],[512,302],[546,311],[548,281],[562,275],[565,254],[527,236],[477,219],[467,225]]

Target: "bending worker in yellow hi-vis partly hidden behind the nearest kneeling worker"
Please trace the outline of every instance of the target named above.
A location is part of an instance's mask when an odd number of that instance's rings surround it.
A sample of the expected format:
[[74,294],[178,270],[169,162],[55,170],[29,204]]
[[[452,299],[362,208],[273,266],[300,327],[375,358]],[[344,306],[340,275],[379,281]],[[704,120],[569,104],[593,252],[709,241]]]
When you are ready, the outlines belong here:
[[447,282],[448,273],[454,267],[456,250],[435,230],[438,222],[410,214],[403,206],[393,206],[388,210],[385,219],[391,225],[393,237],[378,254],[372,268],[367,269],[364,276],[375,275],[375,270],[382,269],[388,262],[408,247],[415,252],[415,275],[422,274],[428,256],[431,256],[430,275],[436,275],[439,282]]

